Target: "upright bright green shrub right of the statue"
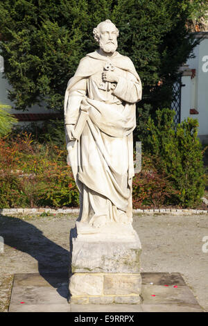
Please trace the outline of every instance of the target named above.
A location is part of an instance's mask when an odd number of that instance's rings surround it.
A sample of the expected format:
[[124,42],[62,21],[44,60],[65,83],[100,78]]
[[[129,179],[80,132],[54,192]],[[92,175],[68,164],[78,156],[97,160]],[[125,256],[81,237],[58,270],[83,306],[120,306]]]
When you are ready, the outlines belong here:
[[198,121],[187,118],[175,126],[174,115],[172,110],[163,109],[157,110],[155,121],[148,119],[146,150],[159,158],[155,161],[157,170],[164,170],[174,189],[179,191],[172,196],[173,204],[194,207],[201,202],[205,191]]

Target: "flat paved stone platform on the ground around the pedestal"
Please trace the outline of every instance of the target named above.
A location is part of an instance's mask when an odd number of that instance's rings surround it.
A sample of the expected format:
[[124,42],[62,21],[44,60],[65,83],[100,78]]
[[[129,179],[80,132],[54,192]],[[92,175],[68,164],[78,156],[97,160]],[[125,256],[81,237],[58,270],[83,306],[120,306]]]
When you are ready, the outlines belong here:
[[141,304],[69,304],[67,275],[17,274],[9,312],[202,312],[179,273],[142,273]]

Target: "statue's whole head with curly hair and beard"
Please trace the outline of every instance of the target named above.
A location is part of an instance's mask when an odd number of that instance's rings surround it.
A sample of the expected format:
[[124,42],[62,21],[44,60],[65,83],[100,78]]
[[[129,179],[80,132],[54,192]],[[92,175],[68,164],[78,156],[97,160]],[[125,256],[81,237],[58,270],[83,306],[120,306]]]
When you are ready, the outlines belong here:
[[99,43],[100,48],[106,53],[114,53],[117,49],[117,37],[119,36],[119,30],[110,21],[105,20],[98,24],[93,30],[94,38]]

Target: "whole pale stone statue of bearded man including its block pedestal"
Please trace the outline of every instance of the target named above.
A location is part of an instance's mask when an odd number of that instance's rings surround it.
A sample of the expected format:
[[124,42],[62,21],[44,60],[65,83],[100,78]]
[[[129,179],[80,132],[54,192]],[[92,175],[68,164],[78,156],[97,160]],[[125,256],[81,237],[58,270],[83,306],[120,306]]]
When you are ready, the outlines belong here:
[[116,52],[119,31],[94,28],[98,51],[80,60],[64,101],[68,157],[80,191],[80,216],[70,232],[69,302],[141,302],[141,243],[132,227],[132,131],[141,81]]

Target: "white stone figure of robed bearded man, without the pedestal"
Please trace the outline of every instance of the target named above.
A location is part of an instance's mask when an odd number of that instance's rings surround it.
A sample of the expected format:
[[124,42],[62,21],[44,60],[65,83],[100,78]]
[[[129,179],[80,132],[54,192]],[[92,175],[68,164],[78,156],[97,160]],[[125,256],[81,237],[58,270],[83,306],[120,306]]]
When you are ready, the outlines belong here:
[[130,58],[116,51],[119,31],[109,19],[93,33],[99,49],[80,60],[69,80],[64,123],[67,162],[80,191],[80,222],[101,228],[132,223],[132,131],[141,80]]

